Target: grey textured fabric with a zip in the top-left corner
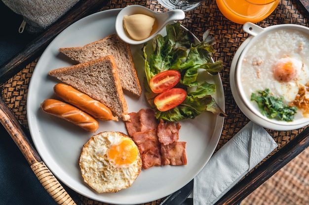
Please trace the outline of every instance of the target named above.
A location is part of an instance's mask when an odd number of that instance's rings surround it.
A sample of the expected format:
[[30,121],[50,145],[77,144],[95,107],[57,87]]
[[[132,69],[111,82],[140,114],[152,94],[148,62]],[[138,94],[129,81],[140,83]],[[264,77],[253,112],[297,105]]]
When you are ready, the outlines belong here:
[[24,17],[27,25],[26,30],[32,33],[41,32],[79,0],[2,0],[15,13]]

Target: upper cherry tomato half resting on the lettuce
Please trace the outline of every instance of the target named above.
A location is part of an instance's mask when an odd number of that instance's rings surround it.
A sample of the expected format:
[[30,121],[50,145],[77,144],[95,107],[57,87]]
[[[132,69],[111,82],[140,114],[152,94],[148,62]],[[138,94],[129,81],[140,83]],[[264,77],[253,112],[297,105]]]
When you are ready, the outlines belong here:
[[166,70],[156,74],[149,81],[149,86],[154,93],[163,92],[173,88],[180,81],[181,75],[177,70]]

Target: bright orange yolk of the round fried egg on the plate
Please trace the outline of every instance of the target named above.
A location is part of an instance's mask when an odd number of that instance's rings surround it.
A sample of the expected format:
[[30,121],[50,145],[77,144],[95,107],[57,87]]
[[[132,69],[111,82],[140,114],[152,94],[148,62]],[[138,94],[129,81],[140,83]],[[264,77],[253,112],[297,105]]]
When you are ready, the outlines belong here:
[[138,149],[132,140],[124,139],[119,144],[112,145],[107,154],[111,162],[115,165],[123,166],[135,161]]

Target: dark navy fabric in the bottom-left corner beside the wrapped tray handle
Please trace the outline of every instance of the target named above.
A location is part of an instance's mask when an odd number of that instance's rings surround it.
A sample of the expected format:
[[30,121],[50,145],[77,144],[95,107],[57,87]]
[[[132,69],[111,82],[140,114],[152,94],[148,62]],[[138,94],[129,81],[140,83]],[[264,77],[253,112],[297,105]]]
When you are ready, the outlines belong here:
[[57,205],[1,124],[0,205]]

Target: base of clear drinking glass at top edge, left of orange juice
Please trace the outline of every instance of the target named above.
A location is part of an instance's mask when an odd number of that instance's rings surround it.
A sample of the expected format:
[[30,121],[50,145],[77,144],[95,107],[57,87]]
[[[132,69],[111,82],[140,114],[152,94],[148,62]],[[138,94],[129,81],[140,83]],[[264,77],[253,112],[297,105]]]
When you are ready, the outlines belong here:
[[190,11],[205,0],[158,0],[158,2],[165,8],[172,9],[181,9],[183,11]]

